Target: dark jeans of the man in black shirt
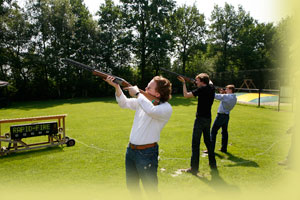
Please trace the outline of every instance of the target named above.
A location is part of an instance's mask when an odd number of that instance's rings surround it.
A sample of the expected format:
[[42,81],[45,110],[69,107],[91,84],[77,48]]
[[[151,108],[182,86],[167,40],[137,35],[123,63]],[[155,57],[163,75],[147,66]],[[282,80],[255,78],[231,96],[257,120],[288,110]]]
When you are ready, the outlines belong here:
[[212,144],[210,140],[210,123],[209,118],[196,118],[193,129],[192,139],[192,157],[191,157],[191,168],[192,171],[197,172],[199,170],[200,160],[200,141],[203,133],[204,143],[208,150],[208,159],[210,167],[216,167],[215,153],[212,150]]

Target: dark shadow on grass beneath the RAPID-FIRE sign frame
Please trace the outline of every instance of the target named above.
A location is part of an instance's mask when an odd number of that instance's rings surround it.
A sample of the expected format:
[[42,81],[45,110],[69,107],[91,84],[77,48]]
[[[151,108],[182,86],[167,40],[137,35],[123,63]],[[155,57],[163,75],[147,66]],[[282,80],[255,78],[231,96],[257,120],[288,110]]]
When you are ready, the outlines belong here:
[[7,155],[0,156],[0,163],[10,162],[14,160],[23,160],[32,157],[44,156],[46,154],[54,154],[63,152],[63,147],[54,146],[41,149],[24,150],[20,152],[13,152]]

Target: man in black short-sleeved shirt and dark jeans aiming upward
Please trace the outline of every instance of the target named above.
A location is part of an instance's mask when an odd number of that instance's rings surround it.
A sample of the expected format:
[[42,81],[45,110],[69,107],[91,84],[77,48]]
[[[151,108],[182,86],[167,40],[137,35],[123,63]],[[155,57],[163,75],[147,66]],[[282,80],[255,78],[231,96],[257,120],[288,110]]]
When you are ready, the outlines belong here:
[[209,166],[211,169],[216,169],[215,153],[212,150],[210,140],[210,124],[211,124],[211,106],[214,102],[215,88],[210,84],[209,76],[206,73],[201,73],[196,76],[197,89],[192,92],[187,92],[185,80],[183,77],[178,77],[178,80],[183,83],[183,96],[185,98],[198,97],[198,106],[196,119],[194,122],[193,138],[192,138],[192,157],[191,168],[186,169],[194,175],[199,170],[200,157],[200,139],[203,132],[204,143],[208,150]]

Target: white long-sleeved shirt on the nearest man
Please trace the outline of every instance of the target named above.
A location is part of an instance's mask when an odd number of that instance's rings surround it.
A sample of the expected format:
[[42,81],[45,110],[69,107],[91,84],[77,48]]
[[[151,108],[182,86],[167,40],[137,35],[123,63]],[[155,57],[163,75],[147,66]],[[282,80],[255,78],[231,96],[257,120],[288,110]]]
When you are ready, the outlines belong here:
[[121,108],[135,110],[130,143],[144,145],[158,142],[162,128],[169,121],[172,107],[168,102],[154,106],[143,94],[127,98],[123,92],[116,100]]

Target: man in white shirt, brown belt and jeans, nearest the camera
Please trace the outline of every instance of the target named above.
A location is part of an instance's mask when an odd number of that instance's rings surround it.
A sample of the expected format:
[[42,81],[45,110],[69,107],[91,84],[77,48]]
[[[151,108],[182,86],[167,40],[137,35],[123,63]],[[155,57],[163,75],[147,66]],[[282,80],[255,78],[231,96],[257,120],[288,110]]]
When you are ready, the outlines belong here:
[[116,90],[116,100],[121,108],[135,110],[134,121],[126,151],[126,183],[134,194],[140,192],[139,181],[147,193],[157,192],[158,141],[162,128],[169,121],[172,107],[168,103],[171,97],[171,83],[168,79],[155,76],[146,87],[146,93],[158,98],[159,105],[153,105],[137,86],[124,88],[129,91],[127,98],[121,87],[108,76],[106,82]]

